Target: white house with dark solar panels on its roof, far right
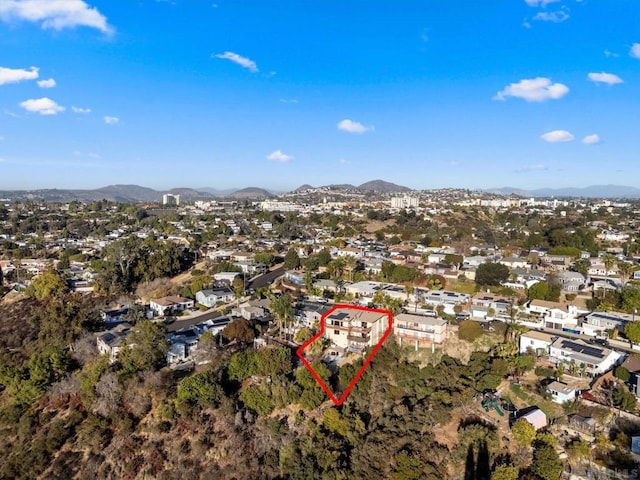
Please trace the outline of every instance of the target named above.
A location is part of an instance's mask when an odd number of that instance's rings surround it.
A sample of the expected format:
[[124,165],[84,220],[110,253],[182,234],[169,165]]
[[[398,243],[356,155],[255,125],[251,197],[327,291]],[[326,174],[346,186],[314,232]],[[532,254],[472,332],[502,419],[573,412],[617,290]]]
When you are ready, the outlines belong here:
[[557,338],[549,346],[549,357],[556,363],[584,365],[586,373],[600,375],[613,368],[621,354],[582,340]]

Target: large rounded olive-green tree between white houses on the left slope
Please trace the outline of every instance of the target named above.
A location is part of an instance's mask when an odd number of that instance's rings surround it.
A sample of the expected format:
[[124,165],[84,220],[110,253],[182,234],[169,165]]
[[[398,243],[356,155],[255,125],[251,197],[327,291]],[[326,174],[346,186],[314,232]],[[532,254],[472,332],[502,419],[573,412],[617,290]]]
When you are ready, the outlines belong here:
[[131,330],[118,353],[122,373],[130,375],[140,370],[163,366],[167,361],[169,344],[163,325],[141,320]]

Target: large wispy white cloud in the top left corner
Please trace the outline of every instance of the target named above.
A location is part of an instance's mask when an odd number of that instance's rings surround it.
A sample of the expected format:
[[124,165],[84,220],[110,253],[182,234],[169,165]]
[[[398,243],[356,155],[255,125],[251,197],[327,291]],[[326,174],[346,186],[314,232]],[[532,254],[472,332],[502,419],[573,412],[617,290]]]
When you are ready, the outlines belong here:
[[84,0],[2,0],[0,20],[26,20],[54,30],[78,26],[97,28],[105,33],[113,30],[107,18]]

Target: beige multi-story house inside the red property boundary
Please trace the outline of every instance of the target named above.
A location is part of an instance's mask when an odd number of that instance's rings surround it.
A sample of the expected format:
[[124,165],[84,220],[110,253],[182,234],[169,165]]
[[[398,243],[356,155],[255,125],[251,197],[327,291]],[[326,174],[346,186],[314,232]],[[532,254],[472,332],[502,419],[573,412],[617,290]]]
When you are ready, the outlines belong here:
[[338,308],[325,318],[324,337],[339,348],[362,351],[376,345],[388,327],[385,313]]

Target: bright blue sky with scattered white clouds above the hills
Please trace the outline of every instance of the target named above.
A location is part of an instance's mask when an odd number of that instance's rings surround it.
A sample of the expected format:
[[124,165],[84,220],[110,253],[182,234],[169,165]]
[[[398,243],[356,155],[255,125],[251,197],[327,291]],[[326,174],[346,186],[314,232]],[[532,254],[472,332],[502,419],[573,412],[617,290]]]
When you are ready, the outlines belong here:
[[640,187],[636,0],[2,0],[0,189]]

